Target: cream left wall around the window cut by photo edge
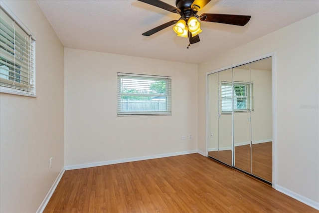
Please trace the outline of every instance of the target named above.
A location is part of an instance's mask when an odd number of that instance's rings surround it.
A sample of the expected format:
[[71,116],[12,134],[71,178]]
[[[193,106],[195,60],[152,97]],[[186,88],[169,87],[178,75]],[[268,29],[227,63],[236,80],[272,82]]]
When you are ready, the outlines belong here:
[[35,1],[4,2],[36,36],[37,97],[0,93],[0,212],[34,213],[64,166],[63,46]]

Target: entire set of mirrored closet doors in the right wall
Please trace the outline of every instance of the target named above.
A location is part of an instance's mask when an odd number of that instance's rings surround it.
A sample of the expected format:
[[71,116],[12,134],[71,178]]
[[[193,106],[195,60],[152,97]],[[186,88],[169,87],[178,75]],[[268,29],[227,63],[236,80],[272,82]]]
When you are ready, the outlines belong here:
[[208,75],[208,157],[272,182],[271,57]]

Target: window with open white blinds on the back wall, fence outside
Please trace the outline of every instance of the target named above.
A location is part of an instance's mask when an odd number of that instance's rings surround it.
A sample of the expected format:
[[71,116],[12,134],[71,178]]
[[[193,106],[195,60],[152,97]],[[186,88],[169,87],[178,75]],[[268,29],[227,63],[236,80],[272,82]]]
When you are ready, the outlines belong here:
[[118,73],[118,115],[171,115],[171,77]]

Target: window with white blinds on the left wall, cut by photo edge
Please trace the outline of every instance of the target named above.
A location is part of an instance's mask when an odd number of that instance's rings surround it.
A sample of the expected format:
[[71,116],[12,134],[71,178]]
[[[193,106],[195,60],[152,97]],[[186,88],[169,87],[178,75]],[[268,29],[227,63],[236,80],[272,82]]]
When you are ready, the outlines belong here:
[[0,91],[35,95],[34,36],[1,2]]

